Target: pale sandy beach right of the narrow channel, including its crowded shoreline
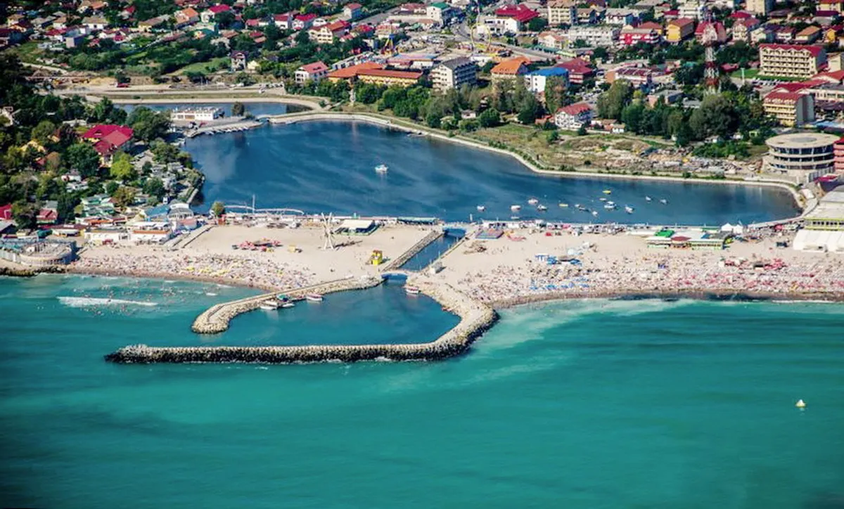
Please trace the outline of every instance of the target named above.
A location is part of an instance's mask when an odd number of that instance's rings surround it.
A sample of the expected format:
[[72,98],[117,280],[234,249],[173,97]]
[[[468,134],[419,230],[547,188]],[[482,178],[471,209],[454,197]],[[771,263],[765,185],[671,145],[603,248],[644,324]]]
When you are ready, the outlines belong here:
[[[844,300],[844,267],[834,254],[777,248],[771,237],[734,242],[723,251],[653,249],[626,234],[545,236],[520,230],[511,241],[469,240],[441,262],[436,275],[497,308],[533,301],[623,295],[747,295],[780,299]],[[536,255],[574,257],[548,265]]]

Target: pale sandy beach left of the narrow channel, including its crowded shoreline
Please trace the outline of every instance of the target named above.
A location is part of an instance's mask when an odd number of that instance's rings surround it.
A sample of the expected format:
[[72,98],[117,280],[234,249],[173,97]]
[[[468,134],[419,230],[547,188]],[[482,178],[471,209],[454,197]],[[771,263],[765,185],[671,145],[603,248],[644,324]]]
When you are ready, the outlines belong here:
[[[319,228],[268,229],[218,226],[187,246],[89,246],[68,272],[180,278],[284,290],[349,276],[375,275],[369,259],[381,250],[387,260],[401,256],[430,230],[381,226],[370,236],[334,236],[333,251],[323,250]],[[277,242],[267,251],[232,249],[244,242]]]

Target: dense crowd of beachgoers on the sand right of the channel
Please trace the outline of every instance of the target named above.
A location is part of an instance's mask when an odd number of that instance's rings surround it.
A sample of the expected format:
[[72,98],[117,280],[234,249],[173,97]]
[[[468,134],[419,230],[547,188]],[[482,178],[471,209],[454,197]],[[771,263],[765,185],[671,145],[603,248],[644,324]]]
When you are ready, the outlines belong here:
[[[492,251],[495,252],[495,251]],[[457,279],[467,295],[488,303],[543,296],[631,294],[756,294],[787,298],[844,298],[844,264],[836,256],[735,257],[726,252],[665,252],[604,255],[583,252],[574,261],[549,265],[526,259],[516,265],[477,264]],[[484,257],[484,254],[474,255]]]

